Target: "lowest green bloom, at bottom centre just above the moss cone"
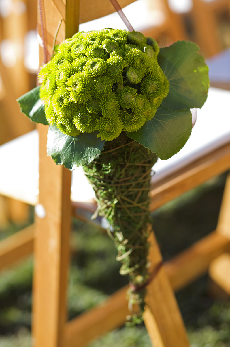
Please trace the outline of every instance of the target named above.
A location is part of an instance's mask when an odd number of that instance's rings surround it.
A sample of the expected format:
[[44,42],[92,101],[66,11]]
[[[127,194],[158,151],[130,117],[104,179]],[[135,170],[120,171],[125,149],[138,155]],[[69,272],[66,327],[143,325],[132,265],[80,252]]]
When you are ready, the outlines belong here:
[[119,116],[114,118],[100,117],[96,120],[95,130],[99,130],[101,141],[112,141],[122,132],[123,124]]

